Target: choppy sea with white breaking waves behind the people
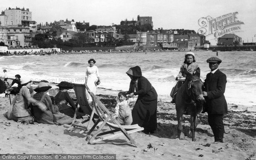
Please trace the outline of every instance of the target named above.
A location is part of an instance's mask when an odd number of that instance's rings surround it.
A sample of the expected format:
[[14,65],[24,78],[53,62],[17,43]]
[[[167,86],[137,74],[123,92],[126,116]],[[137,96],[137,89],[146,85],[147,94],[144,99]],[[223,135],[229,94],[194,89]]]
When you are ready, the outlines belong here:
[[[52,83],[69,81],[83,84],[88,60],[96,60],[102,83],[99,87],[112,90],[128,90],[130,78],[125,73],[136,65],[156,89],[159,99],[170,101],[169,96],[175,77],[183,64],[185,52],[122,52],[69,55],[25,55],[2,56],[0,68],[7,70],[9,78],[16,74],[34,81],[47,80]],[[201,80],[210,72],[207,58],[216,52],[195,52],[196,62],[201,68]],[[256,52],[218,52],[222,60],[219,69],[227,75],[225,97],[228,103],[256,105]],[[3,73],[0,74],[3,76]]]

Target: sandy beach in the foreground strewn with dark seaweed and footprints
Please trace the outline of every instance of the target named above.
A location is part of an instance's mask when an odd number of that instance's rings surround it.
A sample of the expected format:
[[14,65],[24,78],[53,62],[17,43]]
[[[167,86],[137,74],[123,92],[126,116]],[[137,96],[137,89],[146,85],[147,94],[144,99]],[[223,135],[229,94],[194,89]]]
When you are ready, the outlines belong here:
[[[49,90],[52,96],[58,90]],[[118,91],[99,88],[97,96],[113,111]],[[76,101],[74,92],[71,98]],[[14,96],[11,95],[11,99]],[[87,144],[86,134],[80,130],[67,131],[64,125],[22,124],[8,120],[9,97],[0,97],[0,154],[116,154],[125,160],[255,160],[256,159],[256,111],[255,106],[228,104],[224,116],[224,143],[213,143],[212,130],[207,113],[198,115],[196,141],[189,135],[189,116],[183,119],[181,140],[177,139],[175,105],[158,102],[157,131],[154,134],[136,132],[131,137],[139,144],[134,147],[125,136]],[[107,127],[106,127],[107,128]],[[148,148],[151,144],[152,148]]]

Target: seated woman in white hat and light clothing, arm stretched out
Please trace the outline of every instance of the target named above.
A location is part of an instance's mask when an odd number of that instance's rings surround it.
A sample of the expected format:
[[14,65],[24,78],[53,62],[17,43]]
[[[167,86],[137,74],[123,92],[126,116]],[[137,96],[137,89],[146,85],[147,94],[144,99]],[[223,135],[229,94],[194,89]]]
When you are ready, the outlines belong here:
[[31,80],[27,78],[20,79],[21,89],[13,100],[12,119],[16,122],[31,123],[34,124],[35,119],[28,108],[29,103],[32,103],[44,112],[46,110],[45,105],[41,102],[33,99],[30,95],[29,88]]

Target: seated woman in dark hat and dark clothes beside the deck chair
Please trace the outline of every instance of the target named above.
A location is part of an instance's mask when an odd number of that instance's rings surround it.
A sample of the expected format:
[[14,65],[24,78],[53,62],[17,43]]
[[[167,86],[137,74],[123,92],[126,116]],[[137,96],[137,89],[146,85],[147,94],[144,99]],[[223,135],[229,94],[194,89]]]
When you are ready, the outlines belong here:
[[[67,81],[61,81],[61,83],[57,86],[59,87],[60,91],[54,97],[55,104],[61,102],[61,100],[66,100],[66,103],[61,105],[61,109],[59,111],[73,118],[76,112],[76,105],[67,92],[68,89],[73,89],[73,86],[71,83]],[[69,105],[67,105],[67,103]],[[80,119],[81,115],[78,114],[76,118]]]

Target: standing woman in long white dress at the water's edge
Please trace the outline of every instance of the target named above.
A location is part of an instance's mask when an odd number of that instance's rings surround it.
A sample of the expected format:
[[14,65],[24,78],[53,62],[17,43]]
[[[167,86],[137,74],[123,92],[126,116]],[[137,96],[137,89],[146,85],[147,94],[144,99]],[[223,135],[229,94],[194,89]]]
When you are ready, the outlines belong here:
[[[86,68],[86,74],[85,74],[85,84],[87,84],[90,91],[93,92],[94,94],[96,94],[97,85],[100,84],[99,70],[98,70],[98,67],[94,65],[95,63],[96,61],[94,59],[90,59],[88,61],[88,64],[90,66]],[[97,81],[97,84],[95,83],[95,81]],[[87,96],[88,102],[92,102],[92,97],[88,92],[86,92],[86,96]]]

